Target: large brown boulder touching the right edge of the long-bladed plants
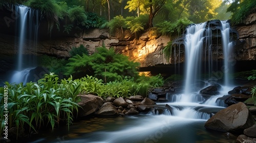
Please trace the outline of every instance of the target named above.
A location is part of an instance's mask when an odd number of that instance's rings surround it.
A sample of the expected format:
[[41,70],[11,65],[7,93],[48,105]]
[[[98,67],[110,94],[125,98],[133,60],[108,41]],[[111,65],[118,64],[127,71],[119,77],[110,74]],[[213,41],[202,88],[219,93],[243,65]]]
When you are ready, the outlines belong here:
[[103,99],[95,95],[78,95],[81,101],[77,104],[82,108],[78,110],[78,116],[84,117],[94,113],[103,104]]

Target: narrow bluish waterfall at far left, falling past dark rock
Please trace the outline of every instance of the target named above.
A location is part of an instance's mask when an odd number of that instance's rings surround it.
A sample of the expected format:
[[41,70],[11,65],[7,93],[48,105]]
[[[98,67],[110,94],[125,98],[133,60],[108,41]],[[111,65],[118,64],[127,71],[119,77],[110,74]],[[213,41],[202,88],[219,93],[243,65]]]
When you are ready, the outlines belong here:
[[[16,20],[16,30],[17,30],[17,43],[18,43],[18,53],[16,69],[10,78],[10,82],[27,82],[27,77],[29,76],[29,71],[31,67],[35,65],[36,60],[33,57],[29,59],[24,58],[24,47],[32,46],[36,49],[38,27],[39,27],[39,11],[28,8],[23,5],[14,6],[15,15],[19,17]],[[33,41],[33,43],[27,43],[27,41]],[[29,44],[29,45],[26,45]],[[35,50],[33,50],[35,51]]]

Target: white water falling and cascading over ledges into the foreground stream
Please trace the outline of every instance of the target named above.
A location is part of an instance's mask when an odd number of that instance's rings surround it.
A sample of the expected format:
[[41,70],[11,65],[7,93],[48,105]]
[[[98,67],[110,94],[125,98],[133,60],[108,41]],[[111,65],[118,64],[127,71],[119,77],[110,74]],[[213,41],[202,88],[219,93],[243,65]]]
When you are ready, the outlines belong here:
[[[226,26],[226,24],[224,22],[223,26]],[[205,25],[206,23],[190,25],[186,30],[186,82],[184,83],[184,93],[167,94],[168,102],[157,103],[158,107],[154,107],[146,115],[140,114],[139,116],[114,119],[92,118],[79,121],[70,127],[70,131],[67,131],[67,127],[61,127],[53,133],[41,134],[36,137],[37,139],[30,142],[235,142],[234,139],[227,138],[224,133],[209,131],[204,128],[205,122],[212,115],[227,106],[221,97],[232,89],[229,87],[230,83],[225,82],[222,85],[219,95],[208,98],[200,95],[200,90],[191,89],[196,81],[200,79],[203,42],[211,43],[209,37],[211,31],[205,28]],[[223,28],[222,37],[225,36],[225,32],[223,32],[225,30]],[[229,35],[229,33],[226,34]],[[228,39],[226,38],[227,41]],[[229,45],[230,42],[228,41],[226,44]],[[208,48],[210,48],[210,45]],[[212,59],[212,55],[208,56],[209,59]],[[209,63],[212,63],[212,61]],[[224,64],[227,63],[224,62]],[[213,70],[214,66],[209,65],[208,68]],[[227,75],[225,74],[225,76]],[[206,82],[205,87],[210,84]],[[166,108],[166,106],[169,106],[169,108]]]

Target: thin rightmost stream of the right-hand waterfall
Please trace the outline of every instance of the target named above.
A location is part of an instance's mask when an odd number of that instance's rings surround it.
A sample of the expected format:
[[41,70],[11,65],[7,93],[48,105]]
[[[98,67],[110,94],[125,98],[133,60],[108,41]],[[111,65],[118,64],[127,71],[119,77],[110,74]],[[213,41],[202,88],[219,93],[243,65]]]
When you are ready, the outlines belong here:
[[233,62],[233,44],[232,41],[230,41],[230,26],[227,21],[221,21],[222,23],[222,30],[221,30],[221,36],[222,36],[222,47],[223,47],[223,55],[224,55],[224,66],[222,71],[224,72],[224,85],[230,85],[230,79],[229,75],[232,73],[232,64]]

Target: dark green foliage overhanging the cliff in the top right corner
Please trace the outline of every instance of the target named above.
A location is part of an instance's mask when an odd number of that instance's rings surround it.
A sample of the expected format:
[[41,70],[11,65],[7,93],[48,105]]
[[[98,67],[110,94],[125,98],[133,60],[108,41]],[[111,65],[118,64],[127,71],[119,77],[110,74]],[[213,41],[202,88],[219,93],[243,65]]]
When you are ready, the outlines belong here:
[[256,1],[254,0],[235,0],[230,7],[227,9],[227,12],[231,12],[231,23],[239,24],[242,22],[246,16],[256,12]]

